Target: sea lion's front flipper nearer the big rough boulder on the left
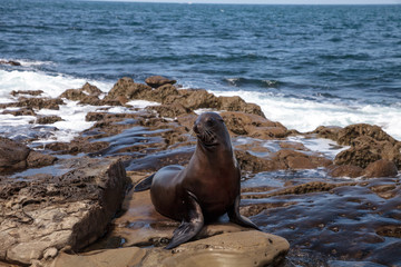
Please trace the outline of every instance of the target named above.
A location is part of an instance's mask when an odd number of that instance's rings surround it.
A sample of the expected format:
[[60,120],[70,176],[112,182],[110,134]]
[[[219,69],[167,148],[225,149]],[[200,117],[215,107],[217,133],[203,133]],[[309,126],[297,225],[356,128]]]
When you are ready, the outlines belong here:
[[172,249],[179,246],[183,243],[190,240],[195,237],[204,226],[204,216],[202,208],[196,200],[196,197],[189,192],[188,197],[188,220],[179,225],[177,229],[174,230],[174,236],[172,241],[167,245],[166,249]]

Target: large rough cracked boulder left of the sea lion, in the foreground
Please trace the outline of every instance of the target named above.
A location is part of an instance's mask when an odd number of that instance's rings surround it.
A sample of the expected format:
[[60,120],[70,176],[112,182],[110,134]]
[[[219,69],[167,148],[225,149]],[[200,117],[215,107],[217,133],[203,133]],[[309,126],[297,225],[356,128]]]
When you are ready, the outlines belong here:
[[68,159],[53,168],[63,174],[0,178],[0,260],[29,265],[78,250],[102,236],[120,208],[128,180],[119,160]]

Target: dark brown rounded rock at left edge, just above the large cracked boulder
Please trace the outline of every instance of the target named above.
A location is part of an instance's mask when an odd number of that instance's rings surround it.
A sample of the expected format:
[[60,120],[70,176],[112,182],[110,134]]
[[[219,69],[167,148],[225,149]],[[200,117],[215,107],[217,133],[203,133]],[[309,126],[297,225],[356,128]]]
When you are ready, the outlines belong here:
[[0,172],[26,168],[29,152],[27,146],[0,137]]

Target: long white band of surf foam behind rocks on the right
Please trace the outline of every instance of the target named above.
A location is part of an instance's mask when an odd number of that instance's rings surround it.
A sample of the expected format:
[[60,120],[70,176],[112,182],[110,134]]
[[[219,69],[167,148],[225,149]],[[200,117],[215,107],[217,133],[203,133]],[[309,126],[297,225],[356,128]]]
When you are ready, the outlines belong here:
[[389,135],[401,140],[399,106],[316,102],[255,91],[212,92],[216,96],[239,96],[247,102],[257,103],[268,119],[280,121],[290,129],[312,131],[319,126],[345,127],[352,123],[370,123],[382,127]]

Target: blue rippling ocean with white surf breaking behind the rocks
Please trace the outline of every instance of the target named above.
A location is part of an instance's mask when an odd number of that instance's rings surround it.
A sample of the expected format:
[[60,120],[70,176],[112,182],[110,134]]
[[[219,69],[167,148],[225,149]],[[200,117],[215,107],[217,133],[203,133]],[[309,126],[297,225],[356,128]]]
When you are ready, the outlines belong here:
[[[16,101],[12,90],[57,97],[88,81],[107,92],[121,77],[162,75],[241,96],[290,129],[366,122],[401,140],[400,29],[397,4],[2,0],[0,61],[21,66],[0,65],[0,103]],[[39,113],[61,113],[57,138],[68,141],[90,110]],[[30,120],[0,115],[0,135],[29,136]]]

